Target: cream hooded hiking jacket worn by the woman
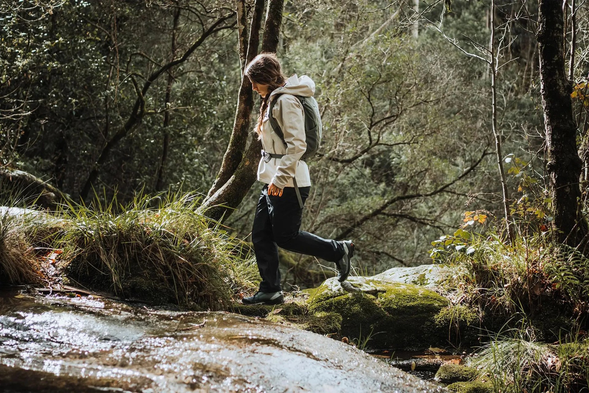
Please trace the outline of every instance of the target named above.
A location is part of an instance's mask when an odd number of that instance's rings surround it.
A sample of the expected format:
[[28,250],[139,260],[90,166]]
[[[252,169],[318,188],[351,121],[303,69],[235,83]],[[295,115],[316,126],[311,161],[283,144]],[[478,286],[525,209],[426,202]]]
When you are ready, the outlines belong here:
[[[278,98],[274,95],[284,93]],[[296,174],[297,186],[307,187],[311,185],[309,177],[309,167],[305,161],[300,160],[307,148],[305,141],[305,114],[303,105],[294,95],[303,95],[312,97],[315,94],[315,82],[306,75],[297,77],[292,75],[286,85],[279,87],[270,93],[270,100],[276,100],[273,108],[273,116],[278,122],[280,129],[284,134],[284,146],[280,137],[274,133],[270,125],[270,102],[268,109],[262,121],[262,148],[267,153],[284,154],[282,158],[272,158],[269,162],[264,162],[260,158],[258,164],[257,180],[262,183],[274,183],[275,186],[283,189],[284,187],[294,187],[293,176]]]

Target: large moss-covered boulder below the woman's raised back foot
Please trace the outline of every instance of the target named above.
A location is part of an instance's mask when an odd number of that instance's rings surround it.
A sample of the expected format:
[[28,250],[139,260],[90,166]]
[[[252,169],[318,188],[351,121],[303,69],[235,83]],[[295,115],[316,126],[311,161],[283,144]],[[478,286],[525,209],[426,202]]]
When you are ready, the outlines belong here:
[[373,278],[351,278],[343,287],[333,281],[304,292],[310,312],[342,316],[342,336],[369,337],[369,348],[423,349],[446,343],[448,320],[439,315],[449,301],[433,290]]

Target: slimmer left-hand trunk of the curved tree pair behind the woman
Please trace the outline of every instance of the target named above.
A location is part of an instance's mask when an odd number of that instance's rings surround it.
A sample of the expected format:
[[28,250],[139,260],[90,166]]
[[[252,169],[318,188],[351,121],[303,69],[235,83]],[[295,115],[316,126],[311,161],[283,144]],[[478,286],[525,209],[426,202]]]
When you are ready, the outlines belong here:
[[[258,47],[260,44],[260,27],[262,25],[262,15],[264,12],[264,4],[266,0],[256,0],[256,5],[254,6],[254,12],[252,15],[252,24],[250,26],[250,38],[247,44],[247,55],[244,56],[243,53],[240,53],[240,58],[243,60],[245,58],[245,62],[241,63],[242,71],[244,64],[247,65],[250,61],[253,60],[254,57],[258,54]],[[237,4],[237,9],[239,10],[241,4]],[[238,15],[239,16],[239,15]],[[240,20],[238,17],[237,23],[238,26],[240,22],[243,21],[243,18]],[[243,27],[239,27],[239,29]],[[239,37],[240,40],[240,49],[245,49],[244,45],[241,45],[241,41],[243,37]],[[246,143],[247,143],[247,134],[250,129],[250,117],[252,115],[252,109],[254,107],[254,99],[252,93],[252,84],[250,83],[248,78],[244,78],[243,74],[241,75],[241,86],[239,88],[239,95],[237,97],[237,110],[235,111],[235,119],[233,121],[233,131],[231,132],[231,138],[229,140],[229,146],[227,146],[227,151],[225,151],[225,155],[223,156],[223,162],[221,163],[221,169],[219,170],[219,174],[217,174],[217,179],[215,179],[213,186],[209,190],[207,194],[207,200],[217,192],[223,184],[227,183],[227,180],[233,175],[234,171],[239,166],[241,159],[243,158],[243,152],[246,150]]]

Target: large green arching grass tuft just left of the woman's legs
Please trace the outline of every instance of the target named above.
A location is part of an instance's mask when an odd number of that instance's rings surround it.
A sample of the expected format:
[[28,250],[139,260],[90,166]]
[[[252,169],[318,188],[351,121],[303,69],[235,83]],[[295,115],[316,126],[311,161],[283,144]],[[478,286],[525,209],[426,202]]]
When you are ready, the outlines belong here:
[[[154,204],[156,205],[154,207]],[[56,213],[69,224],[55,236],[72,283],[124,298],[226,309],[257,284],[252,260],[198,212],[195,194],[137,196],[127,206],[94,202]]]

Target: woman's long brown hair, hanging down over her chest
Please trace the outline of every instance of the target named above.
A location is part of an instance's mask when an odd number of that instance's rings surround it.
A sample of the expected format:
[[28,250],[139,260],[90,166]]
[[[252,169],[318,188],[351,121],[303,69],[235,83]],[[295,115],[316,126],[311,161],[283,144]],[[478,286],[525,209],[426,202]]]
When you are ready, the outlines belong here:
[[275,89],[282,87],[286,82],[286,75],[280,70],[280,62],[273,53],[263,53],[254,57],[254,60],[250,61],[247,65],[244,74],[250,78],[250,81],[256,82],[261,85],[268,85],[268,94],[266,97],[262,97],[262,103],[260,104],[260,118],[256,127],[256,133],[262,134],[262,121],[264,120],[264,114],[268,108],[268,101],[270,93]]

